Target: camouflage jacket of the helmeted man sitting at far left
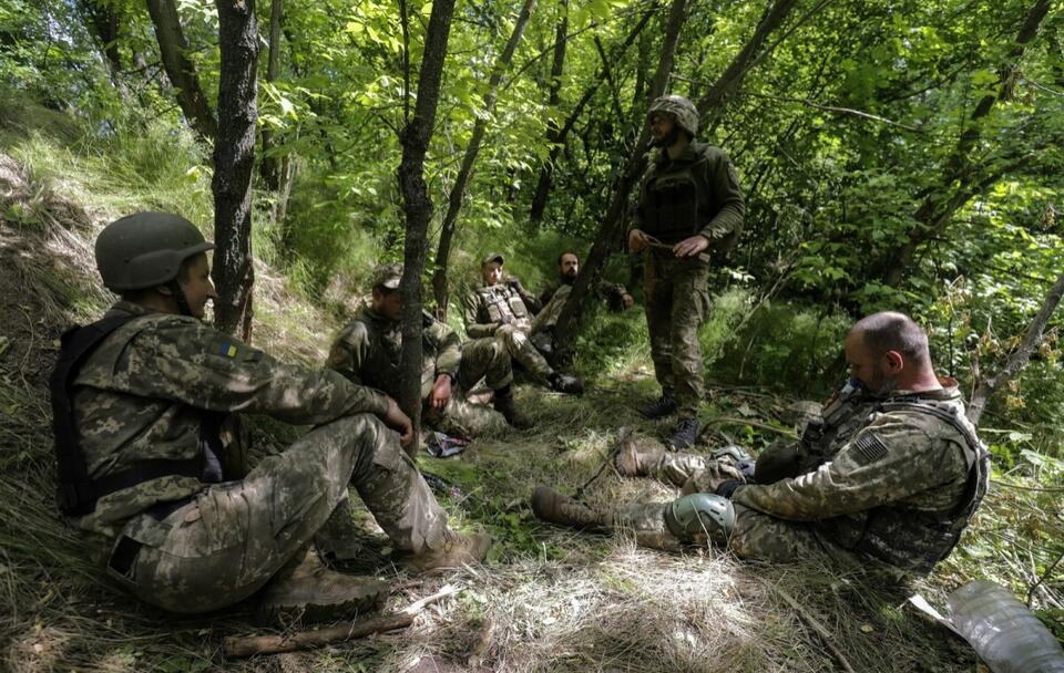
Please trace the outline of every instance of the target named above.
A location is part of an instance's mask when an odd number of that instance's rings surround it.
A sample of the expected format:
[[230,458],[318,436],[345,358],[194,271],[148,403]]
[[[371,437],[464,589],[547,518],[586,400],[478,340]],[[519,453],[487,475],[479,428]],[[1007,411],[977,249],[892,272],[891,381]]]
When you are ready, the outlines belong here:
[[[202,455],[207,414],[260,413],[288,423],[319,424],[388,410],[388,400],[376,391],[351,385],[336,372],[278,362],[195,318],[125,301],[105,317],[123,314],[135,318],[85,359],[72,386],[79,445],[93,478],[144,460]],[[232,442],[225,447],[226,453],[241,449]],[[231,473],[224,477],[231,478]],[[76,524],[114,537],[134,515],[205,487],[203,480],[185,476],[142,482],[100,498],[95,510]]]

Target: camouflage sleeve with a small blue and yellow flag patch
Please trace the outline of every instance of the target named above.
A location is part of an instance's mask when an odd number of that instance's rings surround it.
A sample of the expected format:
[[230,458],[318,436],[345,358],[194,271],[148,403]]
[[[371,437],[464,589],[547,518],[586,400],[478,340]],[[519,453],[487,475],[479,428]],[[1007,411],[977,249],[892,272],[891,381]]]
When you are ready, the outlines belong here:
[[279,362],[200,321],[156,323],[125,353],[129,390],[217,412],[259,413],[296,424],[382,415],[388,397],[331,370]]

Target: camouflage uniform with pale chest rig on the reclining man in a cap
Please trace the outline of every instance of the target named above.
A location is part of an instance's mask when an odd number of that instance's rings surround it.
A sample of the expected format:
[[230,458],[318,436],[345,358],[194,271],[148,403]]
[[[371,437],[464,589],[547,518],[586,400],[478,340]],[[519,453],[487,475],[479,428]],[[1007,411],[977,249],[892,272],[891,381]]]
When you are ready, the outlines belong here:
[[[466,333],[471,339],[494,336],[525,371],[545,381],[554,370],[529,339],[540,306],[515,286],[499,282],[473,290],[466,302]],[[542,329],[542,322],[535,324]]]

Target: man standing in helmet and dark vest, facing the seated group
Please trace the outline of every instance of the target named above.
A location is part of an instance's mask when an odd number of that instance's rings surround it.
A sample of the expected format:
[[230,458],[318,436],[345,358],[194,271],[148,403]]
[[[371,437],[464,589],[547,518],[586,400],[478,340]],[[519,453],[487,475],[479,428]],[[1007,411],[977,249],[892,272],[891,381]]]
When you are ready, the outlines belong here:
[[694,444],[705,391],[698,328],[709,310],[709,251],[735,245],[746,206],[732,161],[719,147],[694,142],[698,111],[683,96],[654,101],[647,121],[654,146],[628,231],[628,249],[648,249],[644,278],[646,323],[662,396],[640,412],[679,416],[666,445]]

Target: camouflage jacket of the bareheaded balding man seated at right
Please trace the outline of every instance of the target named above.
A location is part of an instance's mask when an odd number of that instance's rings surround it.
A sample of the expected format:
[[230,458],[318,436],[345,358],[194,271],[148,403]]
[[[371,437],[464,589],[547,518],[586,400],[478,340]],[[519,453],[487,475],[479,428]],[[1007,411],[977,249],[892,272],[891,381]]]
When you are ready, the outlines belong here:
[[850,408],[819,466],[792,479],[741,486],[733,501],[811,521],[846,549],[927,572],[952,549],[985,491],[986,455],[961,394],[954,383]]

